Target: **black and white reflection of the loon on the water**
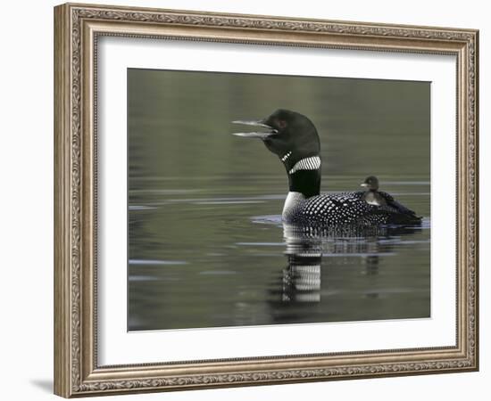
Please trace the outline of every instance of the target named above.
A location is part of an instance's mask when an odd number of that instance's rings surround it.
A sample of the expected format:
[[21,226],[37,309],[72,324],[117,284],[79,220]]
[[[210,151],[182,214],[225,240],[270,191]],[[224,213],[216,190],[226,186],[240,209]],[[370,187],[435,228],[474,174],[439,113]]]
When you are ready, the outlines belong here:
[[[329,266],[353,266],[354,258],[362,267],[362,274],[379,273],[380,256],[390,255],[395,241],[402,235],[420,231],[415,226],[345,226],[336,229],[283,224],[287,244],[287,266],[282,271],[281,292],[275,307],[283,304],[319,303],[321,293],[327,292]],[[277,287],[278,288],[278,287]],[[273,291],[276,292],[276,291]],[[377,291],[366,293],[367,298],[378,298]],[[291,311],[292,312],[292,311]],[[293,313],[293,312],[292,312]],[[280,323],[282,318],[277,315]],[[291,317],[291,316],[290,316]]]

